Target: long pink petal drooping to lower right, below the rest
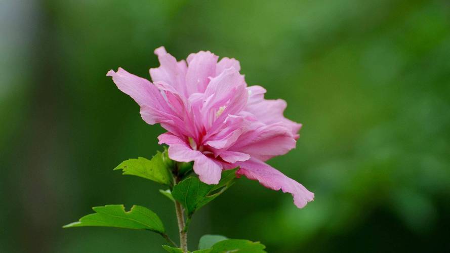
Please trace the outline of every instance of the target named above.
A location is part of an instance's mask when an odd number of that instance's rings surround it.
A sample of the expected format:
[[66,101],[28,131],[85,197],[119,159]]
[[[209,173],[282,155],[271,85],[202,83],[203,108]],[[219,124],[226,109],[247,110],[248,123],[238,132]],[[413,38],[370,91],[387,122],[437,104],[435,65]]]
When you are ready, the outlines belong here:
[[299,208],[314,199],[314,193],[262,161],[252,158],[248,161],[236,162],[235,165],[240,167],[236,174],[258,180],[260,184],[269,189],[276,191],[281,189],[283,192],[291,193],[295,205]]

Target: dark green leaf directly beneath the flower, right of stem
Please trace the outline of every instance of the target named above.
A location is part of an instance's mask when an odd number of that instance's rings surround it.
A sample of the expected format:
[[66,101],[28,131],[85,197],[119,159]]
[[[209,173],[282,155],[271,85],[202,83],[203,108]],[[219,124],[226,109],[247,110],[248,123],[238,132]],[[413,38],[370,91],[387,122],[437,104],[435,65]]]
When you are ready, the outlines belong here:
[[186,178],[174,186],[172,196],[180,201],[190,217],[195,210],[215,199],[234,183],[236,170],[222,172],[222,178],[217,185],[205,184],[196,177]]

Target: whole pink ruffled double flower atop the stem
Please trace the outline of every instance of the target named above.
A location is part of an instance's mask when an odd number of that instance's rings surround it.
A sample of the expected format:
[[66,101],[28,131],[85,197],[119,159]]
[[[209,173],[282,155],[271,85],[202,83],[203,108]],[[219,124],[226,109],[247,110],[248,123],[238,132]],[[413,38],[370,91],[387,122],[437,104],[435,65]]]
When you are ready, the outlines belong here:
[[266,90],[247,86],[235,59],[207,51],[178,61],[157,48],[160,66],[150,69],[153,83],[122,68],[107,76],[141,107],[148,124],[168,132],[158,137],[169,145],[169,157],[194,161],[194,172],[207,184],[217,184],[221,171],[239,166],[237,175],[281,189],[303,207],[314,194],[271,167],[266,160],[295,148],[301,124],[283,116],[284,100],[266,100]]

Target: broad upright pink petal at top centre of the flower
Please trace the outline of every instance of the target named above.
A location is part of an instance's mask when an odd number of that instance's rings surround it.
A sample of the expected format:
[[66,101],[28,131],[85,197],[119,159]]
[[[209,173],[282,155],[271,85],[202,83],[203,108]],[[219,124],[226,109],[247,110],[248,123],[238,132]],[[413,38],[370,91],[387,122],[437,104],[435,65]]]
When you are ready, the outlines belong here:
[[191,54],[187,58],[188,68],[186,72],[186,88],[188,94],[196,92],[204,92],[208,83],[209,77],[216,75],[216,63],[219,57],[212,54],[210,51],[200,51],[196,54]]

